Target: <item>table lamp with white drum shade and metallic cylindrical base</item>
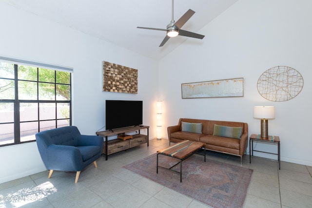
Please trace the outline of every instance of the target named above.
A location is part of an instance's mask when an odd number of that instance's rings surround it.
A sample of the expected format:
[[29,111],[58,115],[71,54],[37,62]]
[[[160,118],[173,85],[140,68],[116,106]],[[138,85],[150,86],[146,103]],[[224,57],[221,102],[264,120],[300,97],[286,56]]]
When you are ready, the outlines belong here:
[[261,119],[261,137],[268,138],[268,119],[275,118],[274,106],[254,106],[254,118]]

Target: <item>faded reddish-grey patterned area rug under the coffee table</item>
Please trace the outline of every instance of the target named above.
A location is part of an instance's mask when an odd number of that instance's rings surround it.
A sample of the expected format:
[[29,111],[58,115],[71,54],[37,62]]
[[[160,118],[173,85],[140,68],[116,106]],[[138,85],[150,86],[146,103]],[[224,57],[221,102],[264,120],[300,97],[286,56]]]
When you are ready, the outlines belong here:
[[[241,208],[244,206],[247,189],[253,170],[209,160],[194,154],[182,162],[182,183],[179,173],[158,168],[156,154],[124,166],[158,184],[176,190],[214,208]],[[170,168],[179,160],[165,155],[158,156],[158,165]],[[180,165],[173,170],[180,171]]]

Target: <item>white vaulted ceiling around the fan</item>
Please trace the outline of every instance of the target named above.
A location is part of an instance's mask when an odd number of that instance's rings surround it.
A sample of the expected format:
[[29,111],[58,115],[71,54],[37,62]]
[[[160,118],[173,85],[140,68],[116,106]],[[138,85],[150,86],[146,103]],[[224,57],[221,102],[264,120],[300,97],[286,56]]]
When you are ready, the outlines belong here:
[[[172,0],[0,1],[156,60],[166,56],[186,39],[192,39],[194,44],[200,44],[205,39],[178,36],[158,47],[166,35],[165,31],[137,29],[137,26],[166,29],[172,19]],[[198,33],[236,1],[176,0],[174,19],[177,21],[188,9],[194,10],[195,14],[182,29]]]

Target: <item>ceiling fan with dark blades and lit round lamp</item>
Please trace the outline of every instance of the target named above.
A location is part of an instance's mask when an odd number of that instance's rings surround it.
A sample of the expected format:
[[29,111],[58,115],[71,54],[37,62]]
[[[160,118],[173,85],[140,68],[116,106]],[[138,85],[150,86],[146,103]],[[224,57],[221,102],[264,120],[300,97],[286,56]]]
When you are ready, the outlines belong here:
[[162,40],[159,47],[163,46],[169,40],[169,38],[173,38],[173,37],[176,37],[178,35],[202,39],[205,36],[180,29],[194,14],[195,14],[195,12],[192,9],[189,9],[180,19],[175,21],[174,20],[174,0],[172,0],[172,20],[167,25],[167,29],[159,29],[159,28],[151,28],[151,27],[137,27],[137,28],[148,29],[148,30],[166,31],[167,35]]

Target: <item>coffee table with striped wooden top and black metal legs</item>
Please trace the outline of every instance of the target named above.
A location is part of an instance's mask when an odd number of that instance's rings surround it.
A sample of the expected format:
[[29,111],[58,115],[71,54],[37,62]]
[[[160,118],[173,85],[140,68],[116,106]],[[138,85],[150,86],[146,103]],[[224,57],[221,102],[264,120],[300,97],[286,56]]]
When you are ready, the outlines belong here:
[[[191,155],[194,153],[200,154],[196,152],[197,150],[204,149],[204,161],[206,162],[206,148],[205,148],[205,143],[203,142],[195,142],[195,141],[190,141],[190,140],[184,140],[182,142],[176,143],[174,146],[158,150],[157,151],[157,169],[156,173],[158,174],[158,167],[163,168],[166,170],[170,170],[176,173],[180,173],[180,182],[182,182],[182,161],[189,158]],[[162,166],[158,166],[158,155],[163,154],[169,157],[174,157],[179,159],[180,161],[176,163],[174,166],[171,168],[165,168]],[[176,170],[172,170],[172,168],[176,167],[176,165],[180,164],[180,172]]]

